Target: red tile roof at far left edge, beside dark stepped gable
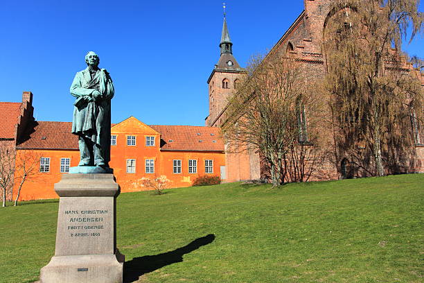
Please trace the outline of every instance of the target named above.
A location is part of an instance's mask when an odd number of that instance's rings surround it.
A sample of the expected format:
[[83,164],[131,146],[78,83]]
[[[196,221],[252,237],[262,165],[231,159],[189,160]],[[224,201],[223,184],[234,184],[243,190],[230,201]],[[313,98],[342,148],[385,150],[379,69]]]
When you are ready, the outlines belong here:
[[20,102],[0,102],[0,139],[15,139],[15,126],[21,116]]

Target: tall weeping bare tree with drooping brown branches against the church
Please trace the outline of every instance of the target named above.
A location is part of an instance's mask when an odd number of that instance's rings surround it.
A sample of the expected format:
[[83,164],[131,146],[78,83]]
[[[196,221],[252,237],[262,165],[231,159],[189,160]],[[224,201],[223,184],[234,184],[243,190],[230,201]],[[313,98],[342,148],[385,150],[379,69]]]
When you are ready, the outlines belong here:
[[[324,34],[326,88],[342,133],[338,146],[355,151],[356,166],[382,176],[412,148],[406,125],[411,109],[422,110],[423,89],[400,46],[408,24],[412,37],[422,32],[423,14],[417,0],[336,0],[331,13]],[[364,150],[357,151],[362,142]]]

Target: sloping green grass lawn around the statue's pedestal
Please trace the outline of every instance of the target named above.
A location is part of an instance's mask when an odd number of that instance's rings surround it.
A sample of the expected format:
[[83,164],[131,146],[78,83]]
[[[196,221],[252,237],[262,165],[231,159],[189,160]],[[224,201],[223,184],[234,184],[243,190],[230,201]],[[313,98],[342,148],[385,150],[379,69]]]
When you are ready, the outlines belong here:
[[[118,197],[125,282],[423,282],[424,175]],[[0,209],[0,282],[54,254],[58,201]]]

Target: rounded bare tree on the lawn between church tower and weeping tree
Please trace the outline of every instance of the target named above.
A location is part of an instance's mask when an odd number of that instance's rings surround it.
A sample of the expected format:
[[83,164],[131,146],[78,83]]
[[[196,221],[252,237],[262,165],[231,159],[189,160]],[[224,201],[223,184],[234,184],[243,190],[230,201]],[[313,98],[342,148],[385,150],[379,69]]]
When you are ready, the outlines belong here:
[[222,132],[229,151],[260,151],[276,187],[287,180],[285,159],[293,146],[306,141],[305,112],[318,110],[319,103],[314,101],[312,107],[305,73],[290,58],[259,55],[252,58],[247,71],[247,78],[229,100]]

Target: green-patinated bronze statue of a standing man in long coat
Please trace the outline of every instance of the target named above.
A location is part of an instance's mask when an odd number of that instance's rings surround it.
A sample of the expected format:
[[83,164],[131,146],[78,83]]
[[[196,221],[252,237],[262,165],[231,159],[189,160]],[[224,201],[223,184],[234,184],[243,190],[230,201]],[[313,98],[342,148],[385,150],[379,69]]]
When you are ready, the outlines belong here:
[[80,163],[78,166],[109,167],[110,100],[114,97],[112,78],[99,69],[100,59],[93,51],[85,55],[87,69],[73,79],[71,94],[76,97],[72,133],[78,135]]

